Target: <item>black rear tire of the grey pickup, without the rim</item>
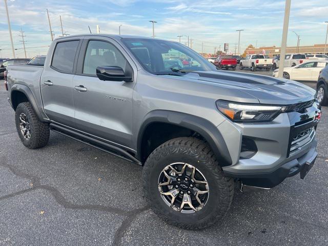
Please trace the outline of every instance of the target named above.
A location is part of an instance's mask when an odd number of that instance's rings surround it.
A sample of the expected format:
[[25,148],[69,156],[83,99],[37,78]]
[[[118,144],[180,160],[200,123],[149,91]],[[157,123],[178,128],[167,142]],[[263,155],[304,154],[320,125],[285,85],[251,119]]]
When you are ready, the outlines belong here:
[[[24,113],[30,126],[31,137],[26,139],[19,128],[19,116]],[[15,112],[16,129],[20,140],[29,149],[42,148],[48,144],[49,124],[39,120],[30,103],[20,103]]]

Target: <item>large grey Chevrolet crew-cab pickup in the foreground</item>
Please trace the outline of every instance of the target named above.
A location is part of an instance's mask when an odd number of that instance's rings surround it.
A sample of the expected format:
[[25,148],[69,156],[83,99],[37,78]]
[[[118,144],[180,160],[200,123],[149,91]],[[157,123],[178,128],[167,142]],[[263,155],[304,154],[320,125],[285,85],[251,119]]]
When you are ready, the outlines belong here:
[[217,70],[177,42],[60,37],[43,67],[8,66],[5,86],[27,148],[46,146],[52,130],[142,166],[151,208],[181,228],[224,216],[235,181],[272,188],[304,178],[317,156],[313,89]]

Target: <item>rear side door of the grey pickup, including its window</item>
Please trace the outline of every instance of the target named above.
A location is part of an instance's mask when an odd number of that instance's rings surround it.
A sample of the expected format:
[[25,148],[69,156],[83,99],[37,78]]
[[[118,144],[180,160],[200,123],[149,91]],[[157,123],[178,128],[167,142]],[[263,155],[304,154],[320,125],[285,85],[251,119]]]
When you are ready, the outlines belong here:
[[58,42],[44,67],[40,90],[44,110],[50,120],[69,127],[74,125],[72,83],[79,48],[79,39]]

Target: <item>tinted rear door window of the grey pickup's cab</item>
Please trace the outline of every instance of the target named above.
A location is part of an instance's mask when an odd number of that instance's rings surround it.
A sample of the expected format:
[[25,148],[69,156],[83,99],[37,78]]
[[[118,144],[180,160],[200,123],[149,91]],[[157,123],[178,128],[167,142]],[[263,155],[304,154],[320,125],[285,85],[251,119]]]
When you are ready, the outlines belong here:
[[60,42],[56,45],[51,66],[65,73],[73,72],[78,40]]

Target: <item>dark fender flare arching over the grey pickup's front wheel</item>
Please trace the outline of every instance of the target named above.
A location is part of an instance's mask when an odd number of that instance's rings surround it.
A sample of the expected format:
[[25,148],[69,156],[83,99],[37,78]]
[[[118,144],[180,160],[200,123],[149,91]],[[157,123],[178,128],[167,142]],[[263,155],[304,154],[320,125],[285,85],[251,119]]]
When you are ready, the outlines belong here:
[[232,164],[227,144],[216,126],[207,119],[169,110],[154,110],[145,116],[137,137],[137,157],[139,160],[141,159],[142,137],[147,127],[154,122],[173,124],[198,132],[211,146],[220,166]]

